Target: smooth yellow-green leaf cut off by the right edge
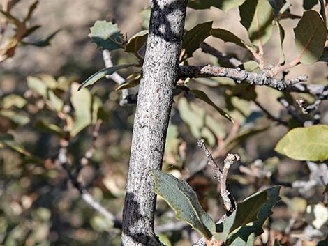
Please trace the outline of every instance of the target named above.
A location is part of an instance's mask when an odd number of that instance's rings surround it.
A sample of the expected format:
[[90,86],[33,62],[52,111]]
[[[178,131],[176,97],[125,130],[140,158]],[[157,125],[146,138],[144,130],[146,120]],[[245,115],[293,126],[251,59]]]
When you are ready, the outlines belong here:
[[328,125],[294,128],[285,134],[274,150],[295,160],[327,160]]

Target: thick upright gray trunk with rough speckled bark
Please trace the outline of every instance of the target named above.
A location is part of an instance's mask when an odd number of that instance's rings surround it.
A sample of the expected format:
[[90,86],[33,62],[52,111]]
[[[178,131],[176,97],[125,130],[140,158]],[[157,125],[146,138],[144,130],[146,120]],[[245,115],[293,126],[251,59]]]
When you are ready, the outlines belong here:
[[161,245],[154,233],[151,170],[162,166],[173,89],[178,77],[187,0],[153,0],[133,125],[123,211],[122,245]]

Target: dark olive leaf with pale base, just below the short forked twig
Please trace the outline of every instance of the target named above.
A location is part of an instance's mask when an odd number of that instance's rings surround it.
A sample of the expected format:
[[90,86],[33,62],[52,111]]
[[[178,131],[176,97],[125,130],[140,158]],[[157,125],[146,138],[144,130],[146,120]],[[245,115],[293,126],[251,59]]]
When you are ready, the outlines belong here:
[[267,190],[256,192],[244,201],[237,203],[237,210],[232,213],[223,223],[218,224],[216,240],[226,240],[229,233],[248,223],[258,220],[258,213],[264,203],[268,201]]

